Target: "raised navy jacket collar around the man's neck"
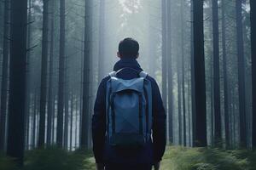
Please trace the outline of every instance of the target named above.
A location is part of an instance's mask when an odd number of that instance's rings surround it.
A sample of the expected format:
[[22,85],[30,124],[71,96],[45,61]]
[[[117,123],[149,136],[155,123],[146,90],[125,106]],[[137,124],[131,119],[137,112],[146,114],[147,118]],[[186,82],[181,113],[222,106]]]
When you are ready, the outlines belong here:
[[113,66],[113,71],[119,71],[120,69],[125,67],[130,67],[137,71],[143,71],[141,65],[138,64],[137,59],[131,58],[119,59],[119,61],[116,62],[116,64]]

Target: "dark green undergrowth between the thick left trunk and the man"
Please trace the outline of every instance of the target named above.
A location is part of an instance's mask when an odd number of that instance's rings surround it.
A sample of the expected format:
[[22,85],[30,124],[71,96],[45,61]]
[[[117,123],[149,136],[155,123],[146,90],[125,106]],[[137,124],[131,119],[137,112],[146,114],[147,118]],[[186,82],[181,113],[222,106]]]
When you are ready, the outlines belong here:
[[23,170],[89,170],[94,169],[90,151],[67,151],[53,147],[26,153]]

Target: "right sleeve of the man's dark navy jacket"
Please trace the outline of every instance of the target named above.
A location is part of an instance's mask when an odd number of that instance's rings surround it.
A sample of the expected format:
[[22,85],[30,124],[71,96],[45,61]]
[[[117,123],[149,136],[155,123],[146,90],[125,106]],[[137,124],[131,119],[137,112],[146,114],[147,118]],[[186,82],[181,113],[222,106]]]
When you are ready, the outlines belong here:
[[166,111],[157,83],[152,81],[154,162],[161,161],[166,150]]

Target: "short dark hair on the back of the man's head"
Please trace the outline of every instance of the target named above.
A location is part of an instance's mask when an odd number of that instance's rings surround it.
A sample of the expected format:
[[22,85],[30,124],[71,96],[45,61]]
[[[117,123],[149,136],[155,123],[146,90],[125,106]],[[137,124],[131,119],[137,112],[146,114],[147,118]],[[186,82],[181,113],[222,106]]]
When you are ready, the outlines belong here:
[[131,37],[126,37],[119,42],[119,54],[122,57],[137,57],[139,48],[139,43]]

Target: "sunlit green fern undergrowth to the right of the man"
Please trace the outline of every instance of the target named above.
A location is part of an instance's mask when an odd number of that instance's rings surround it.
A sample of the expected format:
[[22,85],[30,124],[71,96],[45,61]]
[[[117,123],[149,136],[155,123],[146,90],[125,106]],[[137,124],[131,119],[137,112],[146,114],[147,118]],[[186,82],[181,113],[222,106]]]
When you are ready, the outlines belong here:
[[184,148],[170,146],[162,161],[163,170],[253,170],[256,153],[248,150]]

